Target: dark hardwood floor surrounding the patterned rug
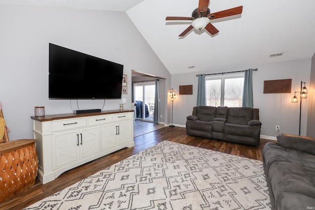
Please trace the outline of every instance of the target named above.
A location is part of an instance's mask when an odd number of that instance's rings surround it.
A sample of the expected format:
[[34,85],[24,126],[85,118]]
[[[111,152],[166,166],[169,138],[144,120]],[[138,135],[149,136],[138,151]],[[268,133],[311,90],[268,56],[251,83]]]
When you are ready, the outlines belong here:
[[10,200],[0,204],[1,210],[20,210],[28,207],[29,205],[60,191],[61,189],[74,184],[96,172],[111,166],[126,157],[131,156],[139,151],[145,150],[161,141],[172,141],[176,143],[191,145],[195,147],[205,148],[209,150],[216,150],[242,157],[262,161],[262,148],[272,140],[260,139],[258,147],[228,143],[223,141],[216,141],[204,139],[200,137],[188,136],[186,128],[183,127],[163,127],[150,133],[134,138],[135,146],[133,148],[126,148],[114,153],[108,154],[104,157],[98,158],[90,163],[79,166],[72,170],[63,173],[56,180],[47,184],[42,184],[36,180],[35,184],[29,189],[19,193]]

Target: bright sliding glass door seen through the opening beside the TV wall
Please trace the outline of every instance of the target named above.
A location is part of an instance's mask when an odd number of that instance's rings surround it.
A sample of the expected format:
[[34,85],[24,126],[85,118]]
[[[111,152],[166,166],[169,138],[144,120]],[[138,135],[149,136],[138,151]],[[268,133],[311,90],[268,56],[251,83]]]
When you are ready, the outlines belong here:
[[154,121],[155,109],[155,82],[134,84],[134,97],[136,105],[136,119]]

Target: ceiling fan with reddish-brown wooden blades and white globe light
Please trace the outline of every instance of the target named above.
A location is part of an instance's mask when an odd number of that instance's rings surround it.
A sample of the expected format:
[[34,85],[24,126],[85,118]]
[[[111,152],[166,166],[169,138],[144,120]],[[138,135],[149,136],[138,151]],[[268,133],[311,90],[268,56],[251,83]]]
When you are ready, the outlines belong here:
[[210,9],[208,8],[209,2],[210,0],[199,0],[198,8],[193,10],[191,17],[166,17],[166,20],[167,21],[192,20],[191,25],[186,30],[184,30],[181,34],[179,34],[179,36],[185,36],[193,28],[197,30],[206,29],[209,31],[209,33],[214,35],[218,33],[219,30],[216,29],[216,27],[214,27],[210,23],[210,20],[232,16],[232,15],[238,15],[238,14],[241,14],[243,10],[243,6],[238,6],[238,7],[223,10],[220,12],[210,13]]

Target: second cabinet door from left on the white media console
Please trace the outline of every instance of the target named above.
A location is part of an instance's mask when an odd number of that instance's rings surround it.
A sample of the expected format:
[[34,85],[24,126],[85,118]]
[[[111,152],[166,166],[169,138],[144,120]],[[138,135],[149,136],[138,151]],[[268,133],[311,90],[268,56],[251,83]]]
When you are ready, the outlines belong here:
[[82,158],[88,158],[100,152],[99,126],[82,128],[80,132]]

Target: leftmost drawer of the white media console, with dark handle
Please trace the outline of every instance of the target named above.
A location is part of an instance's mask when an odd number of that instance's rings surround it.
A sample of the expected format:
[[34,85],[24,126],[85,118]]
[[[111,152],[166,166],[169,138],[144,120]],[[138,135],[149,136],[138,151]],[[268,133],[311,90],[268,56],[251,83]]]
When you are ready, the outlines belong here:
[[86,118],[71,118],[67,120],[53,120],[53,131],[65,130],[87,125]]

